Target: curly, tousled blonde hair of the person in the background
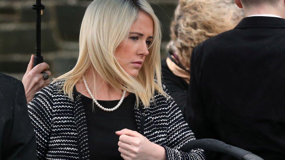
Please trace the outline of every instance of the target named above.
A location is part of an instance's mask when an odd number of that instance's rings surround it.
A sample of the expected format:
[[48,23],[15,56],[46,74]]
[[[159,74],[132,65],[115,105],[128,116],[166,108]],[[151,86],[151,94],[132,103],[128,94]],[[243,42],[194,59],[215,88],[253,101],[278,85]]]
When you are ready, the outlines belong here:
[[[180,0],[171,23],[170,52],[186,59],[199,43],[233,29],[243,17],[232,0]],[[184,66],[184,67],[189,67]]]

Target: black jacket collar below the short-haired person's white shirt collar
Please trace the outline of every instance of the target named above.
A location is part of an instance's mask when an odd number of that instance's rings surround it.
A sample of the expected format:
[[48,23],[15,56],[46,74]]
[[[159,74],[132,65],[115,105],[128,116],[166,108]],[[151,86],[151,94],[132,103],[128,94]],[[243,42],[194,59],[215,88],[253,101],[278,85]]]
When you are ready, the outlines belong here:
[[285,28],[285,19],[278,17],[245,17],[235,28]]

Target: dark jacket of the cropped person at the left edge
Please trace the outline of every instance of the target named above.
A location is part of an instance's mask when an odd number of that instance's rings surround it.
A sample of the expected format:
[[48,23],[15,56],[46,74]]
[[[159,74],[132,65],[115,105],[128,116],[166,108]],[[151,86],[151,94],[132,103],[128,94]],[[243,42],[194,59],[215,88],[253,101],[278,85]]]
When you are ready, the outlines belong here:
[[0,159],[37,159],[36,140],[21,81],[0,73]]

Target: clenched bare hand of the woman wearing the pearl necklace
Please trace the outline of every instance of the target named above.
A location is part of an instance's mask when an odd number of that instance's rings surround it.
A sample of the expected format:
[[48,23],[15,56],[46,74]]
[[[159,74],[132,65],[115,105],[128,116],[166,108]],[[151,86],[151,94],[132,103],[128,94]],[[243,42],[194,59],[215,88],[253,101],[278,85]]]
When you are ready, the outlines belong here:
[[119,152],[125,160],[166,159],[164,147],[150,142],[136,131],[123,129],[116,132],[119,138]]

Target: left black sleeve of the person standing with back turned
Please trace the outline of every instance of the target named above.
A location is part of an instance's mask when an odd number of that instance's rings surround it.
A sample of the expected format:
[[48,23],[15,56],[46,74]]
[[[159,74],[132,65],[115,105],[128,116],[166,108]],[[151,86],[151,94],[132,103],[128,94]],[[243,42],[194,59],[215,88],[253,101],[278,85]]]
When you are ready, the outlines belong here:
[[188,89],[186,121],[197,139],[217,138],[213,126],[207,116],[203,100],[201,68],[203,52],[201,45],[194,48],[190,61],[190,84]]

